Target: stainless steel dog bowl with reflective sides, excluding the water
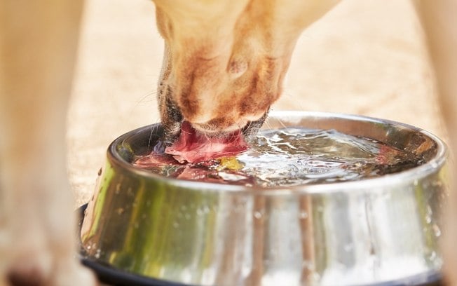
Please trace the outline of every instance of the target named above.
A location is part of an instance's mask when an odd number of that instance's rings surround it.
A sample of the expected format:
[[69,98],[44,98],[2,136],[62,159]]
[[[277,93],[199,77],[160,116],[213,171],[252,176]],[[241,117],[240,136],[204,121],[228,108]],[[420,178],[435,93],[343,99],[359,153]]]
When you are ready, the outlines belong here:
[[425,164],[374,179],[259,189],[191,182],[131,165],[161,136],[118,137],[83,220],[86,259],[186,285],[373,285],[439,278],[446,147],[429,132],[362,116],[278,112],[305,126],[407,149]]

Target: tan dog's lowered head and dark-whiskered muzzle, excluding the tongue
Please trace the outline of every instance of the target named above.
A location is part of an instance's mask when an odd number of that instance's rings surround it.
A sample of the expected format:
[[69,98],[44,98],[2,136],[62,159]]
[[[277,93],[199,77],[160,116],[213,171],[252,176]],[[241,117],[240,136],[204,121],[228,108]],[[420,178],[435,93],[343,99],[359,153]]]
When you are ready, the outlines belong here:
[[154,0],[165,56],[158,104],[169,137],[256,131],[278,99],[296,39],[335,0]]

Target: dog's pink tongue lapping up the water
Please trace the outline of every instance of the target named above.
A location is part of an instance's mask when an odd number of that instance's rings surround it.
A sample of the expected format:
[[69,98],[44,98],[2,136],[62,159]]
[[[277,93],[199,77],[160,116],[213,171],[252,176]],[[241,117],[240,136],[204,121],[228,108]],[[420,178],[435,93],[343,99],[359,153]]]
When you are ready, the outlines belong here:
[[184,121],[181,135],[172,146],[165,148],[179,163],[197,163],[214,158],[231,156],[246,151],[248,145],[240,130],[221,137],[206,137]]

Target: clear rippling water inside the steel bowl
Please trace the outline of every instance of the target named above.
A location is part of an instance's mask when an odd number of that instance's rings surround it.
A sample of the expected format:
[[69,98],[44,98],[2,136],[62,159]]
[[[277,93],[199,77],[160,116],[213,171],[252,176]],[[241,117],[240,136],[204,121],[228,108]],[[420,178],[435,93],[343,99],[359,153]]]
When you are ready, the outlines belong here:
[[236,157],[186,165],[150,165],[167,177],[247,186],[295,186],[378,177],[420,165],[414,154],[335,130],[259,132]]

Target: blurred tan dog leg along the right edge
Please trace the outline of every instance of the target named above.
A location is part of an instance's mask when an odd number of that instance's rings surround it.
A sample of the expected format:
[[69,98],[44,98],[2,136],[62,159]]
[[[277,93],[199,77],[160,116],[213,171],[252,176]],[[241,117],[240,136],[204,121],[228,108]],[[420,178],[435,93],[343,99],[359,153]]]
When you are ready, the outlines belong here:
[[449,147],[453,151],[450,176],[453,182],[443,253],[449,285],[457,285],[457,0],[417,0],[416,4],[435,67],[439,103],[449,132]]

